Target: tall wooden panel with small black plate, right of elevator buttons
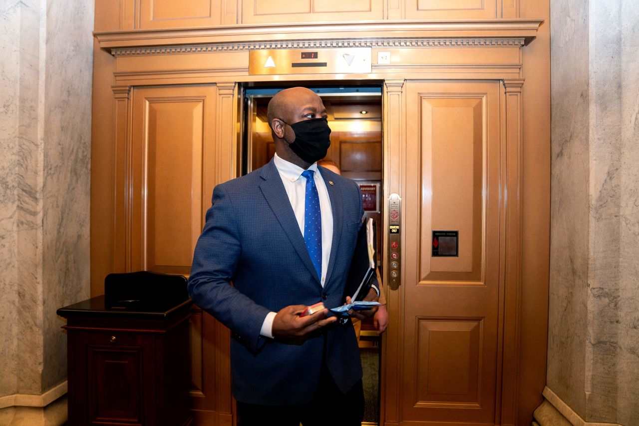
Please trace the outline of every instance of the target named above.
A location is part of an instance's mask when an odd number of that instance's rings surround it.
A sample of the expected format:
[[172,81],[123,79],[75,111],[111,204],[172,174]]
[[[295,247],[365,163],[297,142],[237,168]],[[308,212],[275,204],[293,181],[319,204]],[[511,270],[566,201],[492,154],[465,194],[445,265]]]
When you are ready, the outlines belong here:
[[[500,294],[498,82],[410,82],[403,167],[401,420],[495,424]],[[458,232],[456,256],[435,243]],[[454,245],[454,244],[453,244]]]

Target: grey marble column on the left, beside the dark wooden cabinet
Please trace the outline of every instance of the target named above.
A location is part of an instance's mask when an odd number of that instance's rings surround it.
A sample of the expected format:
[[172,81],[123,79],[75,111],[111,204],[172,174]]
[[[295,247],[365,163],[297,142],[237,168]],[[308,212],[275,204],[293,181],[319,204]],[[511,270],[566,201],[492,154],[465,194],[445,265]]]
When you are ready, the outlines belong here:
[[93,2],[0,4],[0,424],[66,420],[56,309],[89,296]]

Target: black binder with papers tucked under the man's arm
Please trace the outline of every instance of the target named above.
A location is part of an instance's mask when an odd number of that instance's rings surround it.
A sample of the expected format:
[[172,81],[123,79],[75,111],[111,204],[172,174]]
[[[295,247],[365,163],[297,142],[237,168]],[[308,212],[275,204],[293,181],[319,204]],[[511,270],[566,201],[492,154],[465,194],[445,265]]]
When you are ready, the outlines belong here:
[[[370,255],[369,245],[373,248]],[[371,289],[376,269],[376,225],[375,219],[368,217],[364,220],[357,233],[357,244],[355,244],[355,252],[353,252],[348,278],[346,278],[344,299],[346,299],[346,296],[351,296],[353,302],[364,299]]]

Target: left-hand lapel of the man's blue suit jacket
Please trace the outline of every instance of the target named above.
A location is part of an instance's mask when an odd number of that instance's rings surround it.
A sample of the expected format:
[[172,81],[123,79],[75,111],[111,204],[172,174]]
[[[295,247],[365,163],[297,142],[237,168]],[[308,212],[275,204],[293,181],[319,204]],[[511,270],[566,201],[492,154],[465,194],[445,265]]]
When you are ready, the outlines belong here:
[[291,201],[289,201],[288,195],[286,195],[286,189],[284,189],[282,178],[280,177],[272,160],[262,168],[260,177],[262,178],[262,182],[259,184],[259,189],[262,191],[264,198],[266,198],[266,202],[270,206],[271,210],[273,210],[273,214],[277,217],[277,221],[279,221],[282,229],[284,229],[284,232],[291,241],[293,248],[297,251],[300,259],[302,259],[302,263],[306,266],[309,272],[311,272],[311,275],[315,278],[316,284],[320,285],[317,272],[315,271],[315,267],[311,261],[311,256],[309,256],[309,251],[306,248],[304,237],[302,237],[302,232],[300,232],[297,219],[295,219],[295,213],[293,212],[293,207],[291,207]]

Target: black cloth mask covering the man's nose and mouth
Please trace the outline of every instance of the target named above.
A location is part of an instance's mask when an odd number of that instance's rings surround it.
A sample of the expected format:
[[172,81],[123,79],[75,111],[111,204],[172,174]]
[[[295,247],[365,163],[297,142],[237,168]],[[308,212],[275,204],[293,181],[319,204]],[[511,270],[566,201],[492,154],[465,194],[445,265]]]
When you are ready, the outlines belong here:
[[330,127],[326,117],[311,118],[293,124],[284,120],[282,122],[295,132],[295,140],[287,142],[298,157],[309,164],[326,157],[330,146]]

